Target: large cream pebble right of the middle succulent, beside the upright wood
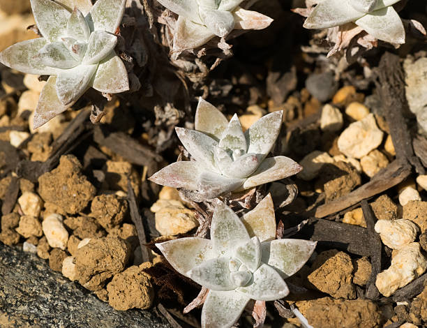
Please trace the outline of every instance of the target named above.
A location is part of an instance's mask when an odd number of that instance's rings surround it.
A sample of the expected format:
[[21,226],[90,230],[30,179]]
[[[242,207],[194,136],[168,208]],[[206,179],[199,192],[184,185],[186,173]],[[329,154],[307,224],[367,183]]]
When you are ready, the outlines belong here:
[[338,138],[338,149],[347,157],[362,158],[380,146],[384,133],[377,127],[375,117],[369,114],[354,122]]

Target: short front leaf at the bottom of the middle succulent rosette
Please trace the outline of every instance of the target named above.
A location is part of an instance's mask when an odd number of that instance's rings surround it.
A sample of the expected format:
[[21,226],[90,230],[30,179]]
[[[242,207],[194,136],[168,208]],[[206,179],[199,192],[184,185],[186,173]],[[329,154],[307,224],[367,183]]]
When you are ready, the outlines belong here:
[[224,177],[218,173],[202,172],[197,177],[197,191],[204,200],[212,200],[224,193],[230,193],[244,184],[244,179]]

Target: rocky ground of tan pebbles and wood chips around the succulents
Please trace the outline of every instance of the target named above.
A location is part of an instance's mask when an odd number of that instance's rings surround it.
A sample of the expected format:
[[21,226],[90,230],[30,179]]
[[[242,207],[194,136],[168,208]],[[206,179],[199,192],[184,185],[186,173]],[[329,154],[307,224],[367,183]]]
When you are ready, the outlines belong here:
[[[300,327],[291,305],[313,327],[427,325],[425,40],[343,64],[301,51],[310,34],[288,2],[271,1],[275,25],[235,40],[209,77],[186,75],[189,111],[114,97],[92,124],[83,98],[33,131],[45,82],[0,68],[0,327],[200,327],[200,310],[182,314],[200,288],[153,246],[193,235],[200,207],[147,177],[179,156],[173,127],[192,127],[202,95],[244,128],[284,110],[274,152],[304,167],[262,191],[279,238],[318,241],[264,327]],[[3,3],[0,49],[33,37],[28,7]],[[426,8],[408,7],[427,22]]]

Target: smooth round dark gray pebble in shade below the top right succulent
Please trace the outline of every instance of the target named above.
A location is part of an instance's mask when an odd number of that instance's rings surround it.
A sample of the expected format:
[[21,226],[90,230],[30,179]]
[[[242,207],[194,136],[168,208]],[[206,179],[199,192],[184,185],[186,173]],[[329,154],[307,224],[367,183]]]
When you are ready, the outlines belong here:
[[307,77],[306,88],[310,94],[324,103],[331,99],[338,90],[338,83],[331,71],[311,74]]

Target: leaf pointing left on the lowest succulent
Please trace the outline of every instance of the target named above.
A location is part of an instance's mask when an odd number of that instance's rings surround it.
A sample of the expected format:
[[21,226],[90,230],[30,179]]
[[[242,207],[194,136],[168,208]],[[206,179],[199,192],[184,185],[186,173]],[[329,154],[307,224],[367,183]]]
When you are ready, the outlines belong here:
[[167,262],[184,276],[187,276],[188,271],[194,267],[214,257],[212,243],[209,239],[179,238],[156,244],[156,246]]

